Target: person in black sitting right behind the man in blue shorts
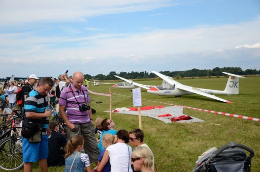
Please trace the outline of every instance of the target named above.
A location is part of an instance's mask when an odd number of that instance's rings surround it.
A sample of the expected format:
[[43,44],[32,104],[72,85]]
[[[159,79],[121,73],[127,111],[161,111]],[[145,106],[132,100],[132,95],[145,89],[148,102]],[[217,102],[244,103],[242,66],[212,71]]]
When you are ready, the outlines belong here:
[[51,135],[48,137],[49,156],[47,158],[48,167],[65,165],[65,145],[67,138],[59,133],[59,125],[57,121],[50,121],[49,127]]

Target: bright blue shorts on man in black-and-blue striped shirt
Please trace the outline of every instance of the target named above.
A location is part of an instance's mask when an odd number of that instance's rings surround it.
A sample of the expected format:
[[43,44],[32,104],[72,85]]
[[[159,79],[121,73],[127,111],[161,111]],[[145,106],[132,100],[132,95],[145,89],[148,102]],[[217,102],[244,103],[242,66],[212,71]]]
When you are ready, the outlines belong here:
[[29,143],[29,140],[23,138],[23,162],[37,162],[40,159],[48,158],[48,136],[42,135],[41,142]]

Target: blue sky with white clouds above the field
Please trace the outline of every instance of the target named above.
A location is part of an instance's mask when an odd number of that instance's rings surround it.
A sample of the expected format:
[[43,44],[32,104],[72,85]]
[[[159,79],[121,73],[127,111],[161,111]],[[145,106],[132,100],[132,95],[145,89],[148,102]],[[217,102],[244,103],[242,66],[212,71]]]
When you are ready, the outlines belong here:
[[260,0],[0,0],[0,78],[260,70]]

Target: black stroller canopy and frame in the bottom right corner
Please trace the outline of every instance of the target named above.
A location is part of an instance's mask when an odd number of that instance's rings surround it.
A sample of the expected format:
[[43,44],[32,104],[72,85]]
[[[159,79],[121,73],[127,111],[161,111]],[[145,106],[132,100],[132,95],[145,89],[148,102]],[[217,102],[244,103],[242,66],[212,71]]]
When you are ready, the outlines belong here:
[[[244,150],[250,152],[249,156]],[[250,172],[254,150],[230,142],[218,150],[207,153],[196,164],[193,172]]]

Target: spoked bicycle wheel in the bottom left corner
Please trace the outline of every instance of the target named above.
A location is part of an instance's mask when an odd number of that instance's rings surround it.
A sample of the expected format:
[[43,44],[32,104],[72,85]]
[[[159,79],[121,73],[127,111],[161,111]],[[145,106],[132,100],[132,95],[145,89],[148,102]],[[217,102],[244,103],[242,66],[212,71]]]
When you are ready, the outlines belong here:
[[23,144],[17,136],[6,138],[0,143],[0,169],[11,171],[23,168]]

